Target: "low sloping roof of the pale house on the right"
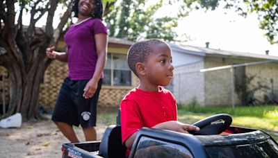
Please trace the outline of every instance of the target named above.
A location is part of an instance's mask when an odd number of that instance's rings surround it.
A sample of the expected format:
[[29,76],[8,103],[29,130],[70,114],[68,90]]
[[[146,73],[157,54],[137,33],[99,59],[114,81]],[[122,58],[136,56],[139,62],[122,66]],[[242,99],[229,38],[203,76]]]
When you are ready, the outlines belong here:
[[263,55],[255,53],[246,53],[238,51],[224,51],[220,49],[209,49],[200,46],[188,46],[188,45],[177,45],[169,44],[172,51],[179,53],[187,53],[198,56],[214,56],[214,57],[230,57],[230,58],[257,58],[263,60],[278,60],[278,56]]

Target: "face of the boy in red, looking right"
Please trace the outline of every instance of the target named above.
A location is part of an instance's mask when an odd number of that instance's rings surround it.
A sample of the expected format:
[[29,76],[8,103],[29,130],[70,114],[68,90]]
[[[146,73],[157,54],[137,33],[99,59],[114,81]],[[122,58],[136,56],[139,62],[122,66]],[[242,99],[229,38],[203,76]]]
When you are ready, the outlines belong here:
[[145,74],[149,86],[167,86],[173,77],[171,49],[167,44],[154,46],[154,51],[145,61]]

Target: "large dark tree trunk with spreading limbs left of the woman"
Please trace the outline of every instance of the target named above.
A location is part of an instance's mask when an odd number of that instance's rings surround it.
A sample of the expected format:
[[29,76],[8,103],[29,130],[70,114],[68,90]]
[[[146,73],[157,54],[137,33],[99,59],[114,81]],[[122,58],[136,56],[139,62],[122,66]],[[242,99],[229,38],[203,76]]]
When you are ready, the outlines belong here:
[[[0,65],[8,70],[10,82],[8,111],[0,119],[20,112],[25,121],[38,116],[40,84],[52,61],[47,58],[45,49],[58,43],[58,37],[71,16],[74,0],[20,2],[0,1]],[[41,7],[41,2],[46,6]],[[58,3],[66,5],[67,10],[54,30],[52,24]],[[15,4],[19,4],[20,10],[17,24]],[[31,10],[27,10],[31,14],[27,29],[22,25],[22,12],[26,6]],[[35,23],[45,12],[48,12],[45,28],[35,28]]]

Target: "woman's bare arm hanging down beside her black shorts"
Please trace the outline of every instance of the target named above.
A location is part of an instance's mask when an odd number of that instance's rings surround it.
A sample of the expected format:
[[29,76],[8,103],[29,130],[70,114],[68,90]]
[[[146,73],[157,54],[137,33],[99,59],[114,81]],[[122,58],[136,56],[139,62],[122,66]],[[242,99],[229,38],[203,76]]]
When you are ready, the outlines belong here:
[[83,94],[83,97],[85,98],[90,98],[95,94],[95,91],[97,90],[97,83],[99,82],[99,78],[101,76],[102,71],[104,71],[104,65],[106,63],[107,58],[107,35],[104,33],[96,34],[95,44],[97,48],[97,64],[95,68],[95,73],[85,86]]

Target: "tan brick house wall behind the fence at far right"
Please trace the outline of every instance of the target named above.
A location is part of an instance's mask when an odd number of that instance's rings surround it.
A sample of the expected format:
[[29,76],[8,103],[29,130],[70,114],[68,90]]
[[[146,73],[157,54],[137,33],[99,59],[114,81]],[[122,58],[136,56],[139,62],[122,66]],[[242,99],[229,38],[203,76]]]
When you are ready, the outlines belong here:
[[[205,68],[221,67],[230,64],[242,64],[249,62],[257,62],[258,60],[246,58],[218,58],[206,57],[204,62]],[[257,87],[257,82],[271,87],[270,78],[274,80],[274,87],[277,87],[278,64],[258,64],[245,67],[246,76],[256,76],[250,85]],[[235,78],[235,76],[234,76]],[[231,105],[231,69],[222,69],[218,71],[204,72],[205,84],[205,105]],[[236,83],[234,83],[236,84]],[[269,91],[269,90],[268,90]],[[259,90],[255,93],[255,98],[258,98],[263,103],[263,94],[265,91]],[[240,104],[240,100],[234,93],[234,101],[236,105]]]

